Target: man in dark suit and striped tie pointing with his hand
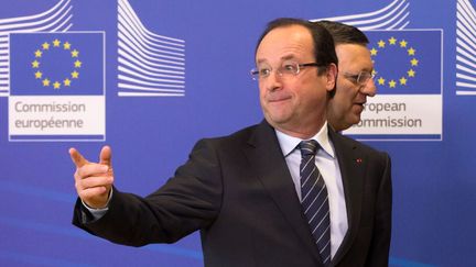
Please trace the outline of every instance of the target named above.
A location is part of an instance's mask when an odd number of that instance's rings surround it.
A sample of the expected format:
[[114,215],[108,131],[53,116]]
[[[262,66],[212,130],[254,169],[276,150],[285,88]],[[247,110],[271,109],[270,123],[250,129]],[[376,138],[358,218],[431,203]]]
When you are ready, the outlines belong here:
[[[132,246],[172,243],[199,230],[206,266],[387,266],[390,159],[327,126],[337,75],[332,36],[306,21],[272,21],[256,64],[266,120],[199,141],[175,176],[147,198],[112,187],[109,147],[98,164],[69,149],[79,196],[74,224]],[[320,147],[305,164],[304,143]],[[309,176],[306,166],[314,166]],[[311,179],[325,196],[316,214],[327,210],[317,235],[307,212],[313,208],[303,204]],[[324,246],[320,236],[327,236]]]

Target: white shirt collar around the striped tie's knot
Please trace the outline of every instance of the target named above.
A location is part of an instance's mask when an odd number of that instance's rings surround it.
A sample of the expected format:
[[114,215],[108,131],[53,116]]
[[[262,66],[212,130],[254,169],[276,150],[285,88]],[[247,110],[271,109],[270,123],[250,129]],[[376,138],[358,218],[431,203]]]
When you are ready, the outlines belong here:
[[[296,146],[301,143],[301,141],[303,141],[301,138],[284,134],[283,132],[280,132],[278,130],[274,130],[274,131],[277,133],[278,142],[280,143],[281,151],[282,151],[284,157],[286,157],[289,154],[291,154],[294,151],[294,148],[296,148]],[[323,151],[325,153],[327,153],[331,157],[334,158],[334,156],[335,156],[334,148],[331,145],[331,141],[328,138],[327,121],[324,123],[324,125],[321,127],[321,130],[316,133],[316,135],[314,135],[310,140],[315,140],[321,145]]]

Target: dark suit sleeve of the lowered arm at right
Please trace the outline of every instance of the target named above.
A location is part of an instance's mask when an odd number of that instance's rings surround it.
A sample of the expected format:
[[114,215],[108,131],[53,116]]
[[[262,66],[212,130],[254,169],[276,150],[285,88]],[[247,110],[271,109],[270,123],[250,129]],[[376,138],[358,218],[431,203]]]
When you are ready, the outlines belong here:
[[381,267],[389,264],[392,213],[391,162],[387,153],[382,155],[383,166],[377,192],[374,234],[366,264],[369,267]]

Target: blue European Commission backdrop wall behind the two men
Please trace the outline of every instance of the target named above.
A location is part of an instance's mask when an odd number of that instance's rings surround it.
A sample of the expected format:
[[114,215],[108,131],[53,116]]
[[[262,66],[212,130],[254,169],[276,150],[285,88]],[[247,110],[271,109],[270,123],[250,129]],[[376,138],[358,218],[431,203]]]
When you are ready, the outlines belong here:
[[[476,111],[475,1],[1,3],[1,266],[203,266],[196,233],[173,245],[133,248],[74,227],[75,168],[67,149],[77,147],[97,160],[100,147],[110,145],[117,187],[148,194],[186,160],[198,138],[261,120],[258,87],[249,69],[259,34],[278,16],[329,18],[369,33],[388,31],[371,33],[377,34],[371,37],[377,46],[379,38],[391,37],[390,31],[430,32],[421,35],[426,43],[409,41],[416,55],[403,53],[419,63],[405,63],[410,65],[403,76],[396,77],[413,81],[405,73],[412,68],[418,82],[405,87],[397,80],[393,89],[385,82],[379,88],[381,96],[408,101],[409,107],[413,94],[423,101],[434,97],[419,111],[407,112],[422,118],[428,113],[423,123],[441,127],[368,129],[355,136],[392,157],[391,266],[476,266],[476,123],[470,119]],[[34,33],[44,38],[36,40]],[[23,36],[28,34],[33,35]],[[405,36],[396,35],[399,41],[411,38]],[[378,66],[378,57],[375,60]],[[394,66],[402,69],[398,62]],[[50,85],[44,84],[46,78]],[[87,103],[84,109],[104,114],[83,112],[79,99]],[[68,124],[79,120],[88,125],[82,133]]]

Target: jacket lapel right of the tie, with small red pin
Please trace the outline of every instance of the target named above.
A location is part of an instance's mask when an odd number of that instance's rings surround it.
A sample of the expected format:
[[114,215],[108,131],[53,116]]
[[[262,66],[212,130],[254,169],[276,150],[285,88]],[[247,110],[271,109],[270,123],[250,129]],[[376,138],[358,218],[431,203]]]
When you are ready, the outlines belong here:
[[348,221],[347,234],[333,258],[334,265],[337,265],[350,248],[358,232],[367,158],[354,142],[344,138],[332,129],[329,129],[329,137],[334,144],[340,168]]

